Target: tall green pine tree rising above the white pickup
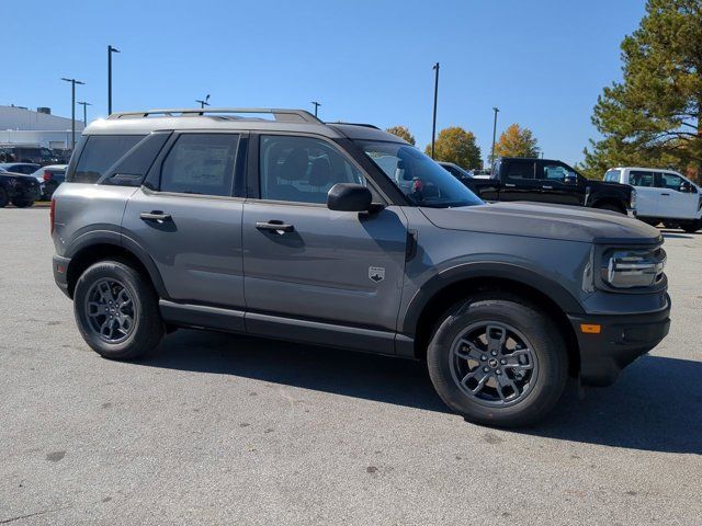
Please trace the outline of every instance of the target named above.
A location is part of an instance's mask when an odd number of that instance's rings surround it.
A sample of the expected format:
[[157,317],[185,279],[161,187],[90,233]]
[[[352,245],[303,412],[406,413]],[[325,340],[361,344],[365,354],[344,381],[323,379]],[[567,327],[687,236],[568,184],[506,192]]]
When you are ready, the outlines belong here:
[[702,0],[648,0],[622,49],[622,82],[604,88],[585,149],[586,172],[612,165],[702,175]]

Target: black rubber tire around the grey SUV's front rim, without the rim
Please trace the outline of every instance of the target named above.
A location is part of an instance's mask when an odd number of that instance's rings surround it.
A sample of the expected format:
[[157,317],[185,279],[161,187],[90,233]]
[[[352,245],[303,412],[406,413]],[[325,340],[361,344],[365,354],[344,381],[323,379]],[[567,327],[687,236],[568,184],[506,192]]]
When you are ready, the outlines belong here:
[[[471,399],[451,374],[451,347],[472,323],[502,322],[520,331],[533,346],[539,364],[535,384],[526,398],[513,405],[490,407]],[[427,352],[429,374],[444,402],[467,420],[489,425],[526,425],[545,414],[558,400],[567,377],[567,354],[558,331],[539,311],[506,300],[482,300],[464,305],[446,316]],[[563,346],[562,346],[563,345]]]

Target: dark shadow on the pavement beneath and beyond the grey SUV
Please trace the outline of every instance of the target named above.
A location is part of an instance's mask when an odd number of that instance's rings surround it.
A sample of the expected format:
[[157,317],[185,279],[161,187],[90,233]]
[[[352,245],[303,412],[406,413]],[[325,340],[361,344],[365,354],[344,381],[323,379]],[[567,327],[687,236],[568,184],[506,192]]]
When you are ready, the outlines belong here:
[[[180,330],[136,364],[215,373],[449,412],[423,364],[336,348]],[[702,362],[644,356],[607,389],[574,385],[541,424],[520,433],[664,453],[702,454]]]

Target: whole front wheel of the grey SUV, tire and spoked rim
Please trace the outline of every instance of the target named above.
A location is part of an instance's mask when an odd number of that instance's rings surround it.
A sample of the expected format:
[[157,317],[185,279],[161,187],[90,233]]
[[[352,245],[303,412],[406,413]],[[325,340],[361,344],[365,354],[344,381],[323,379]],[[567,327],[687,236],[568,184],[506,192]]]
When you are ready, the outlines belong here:
[[[491,331],[492,338],[499,331],[506,331],[505,353],[500,351],[492,356],[484,342],[469,335],[476,334],[471,331],[483,331],[484,325],[486,333]],[[512,332],[516,339],[512,339]],[[466,340],[475,342],[467,352],[458,344]],[[514,345],[508,348],[509,342],[517,343],[518,340],[525,340],[521,342],[526,345],[525,350]],[[477,355],[475,347],[479,351]],[[454,350],[458,348],[471,357],[457,357]],[[514,356],[519,356],[517,361]],[[520,364],[522,361],[523,365]],[[531,369],[528,368],[530,361]],[[477,364],[474,368],[469,365],[472,362]],[[505,363],[508,365],[500,365]],[[518,427],[543,419],[558,401],[567,380],[568,358],[565,341],[551,318],[519,297],[494,293],[471,298],[444,316],[429,344],[427,366],[441,399],[466,420],[498,427]],[[463,370],[458,370],[462,367]],[[489,374],[484,375],[488,369]],[[466,370],[466,377],[475,376],[461,384],[460,379],[466,379],[463,377]],[[499,377],[498,370],[501,371]],[[518,379],[518,374],[524,376]],[[477,389],[480,384],[478,377],[487,376],[490,378],[484,380],[477,395],[466,392]],[[492,387],[491,384],[501,385],[498,379],[505,384],[511,381],[514,389]],[[513,392],[510,395],[510,391]]]

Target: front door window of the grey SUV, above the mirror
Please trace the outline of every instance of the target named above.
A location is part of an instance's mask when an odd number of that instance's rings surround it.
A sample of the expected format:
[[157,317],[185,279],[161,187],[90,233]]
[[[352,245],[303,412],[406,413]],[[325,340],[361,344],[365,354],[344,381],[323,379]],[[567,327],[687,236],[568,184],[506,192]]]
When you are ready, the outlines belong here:
[[328,142],[312,137],[261,136],[261,198],[327,202],[337,183],[365,185],[365,179]]

